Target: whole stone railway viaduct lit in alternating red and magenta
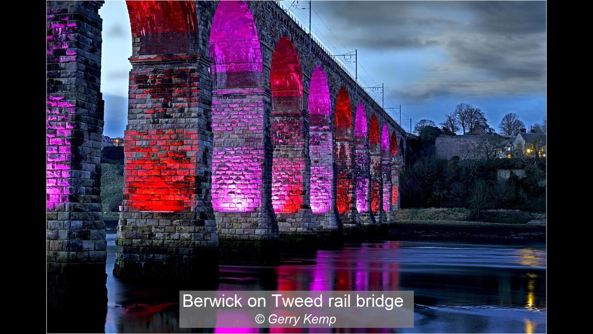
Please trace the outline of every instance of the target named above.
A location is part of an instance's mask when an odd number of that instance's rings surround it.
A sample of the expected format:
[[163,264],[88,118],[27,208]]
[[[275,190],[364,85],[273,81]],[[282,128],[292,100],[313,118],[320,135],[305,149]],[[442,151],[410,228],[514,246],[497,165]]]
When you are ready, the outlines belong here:
[[[50,286],[72,275],[104,284],[102,4],[47,2]],[[279,245],[315,251],[394,221],[414,136],[278,4],[127,8],[133,54],[115,275],[215,278],[219,256],[273,261]]]

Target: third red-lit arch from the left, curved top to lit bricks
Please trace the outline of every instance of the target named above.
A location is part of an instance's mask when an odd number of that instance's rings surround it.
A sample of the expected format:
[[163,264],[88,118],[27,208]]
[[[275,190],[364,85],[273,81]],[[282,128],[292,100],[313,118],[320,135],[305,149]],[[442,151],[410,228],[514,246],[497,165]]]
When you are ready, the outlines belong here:
[[352,190],[352,105],[346,87],[340,88],[336,99],[336,204],[339,213],[351,209]]

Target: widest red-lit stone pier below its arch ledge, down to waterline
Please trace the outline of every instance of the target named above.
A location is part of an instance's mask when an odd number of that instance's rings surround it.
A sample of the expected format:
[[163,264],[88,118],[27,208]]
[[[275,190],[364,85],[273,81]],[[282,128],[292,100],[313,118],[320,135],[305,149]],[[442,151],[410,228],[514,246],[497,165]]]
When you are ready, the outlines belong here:
[[218,275],[212,135],[203,112],[209,97],[200,92],[210,84],[209,64],[199,56],[180,58],[131,59],[114,267],[120,277],[210,281]]

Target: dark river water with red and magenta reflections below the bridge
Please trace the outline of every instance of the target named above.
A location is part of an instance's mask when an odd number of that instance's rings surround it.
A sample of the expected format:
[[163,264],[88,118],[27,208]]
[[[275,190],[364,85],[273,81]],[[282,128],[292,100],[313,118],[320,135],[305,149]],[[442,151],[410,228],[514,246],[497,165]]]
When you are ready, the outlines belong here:
[[[178,297],[164,293],[166,287],[129,285],[114,278],[114,239],[114,234],[107,235],[106,333],[212,332],[178,328]],[[414,328],[337,329],[342,333],[546,332],[546,247],[541,242],[373,242],[318,251],[310,259],[277,267],[221,266],[221,276],[221,290],[412,290],[415,304],[426,307],[415,310]],[[329,332],[261,330],[302,331]]]

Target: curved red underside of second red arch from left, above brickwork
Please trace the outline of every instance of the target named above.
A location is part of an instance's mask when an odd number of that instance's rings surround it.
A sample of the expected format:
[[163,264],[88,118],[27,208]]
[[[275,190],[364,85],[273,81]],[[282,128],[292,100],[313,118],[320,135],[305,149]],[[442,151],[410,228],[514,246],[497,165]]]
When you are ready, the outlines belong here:
[[270,89],[273,110],[302,108],[301,63],[288,37],[280,38],[272,55]]

